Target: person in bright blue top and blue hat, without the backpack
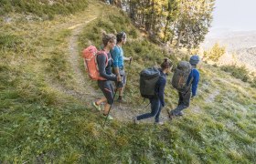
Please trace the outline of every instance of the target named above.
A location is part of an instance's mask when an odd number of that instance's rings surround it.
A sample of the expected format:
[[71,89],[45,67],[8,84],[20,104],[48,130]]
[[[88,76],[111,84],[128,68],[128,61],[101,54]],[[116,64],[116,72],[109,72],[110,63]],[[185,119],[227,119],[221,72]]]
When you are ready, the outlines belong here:
[[191,98],[194,98],[197,95],[197,84],[200,77],[199,71],[197,70],[198,62],[199,62],[199,56],[194,55],[190,57],[189,63],[192,67],[192,70],[187,79],[187,91],[185,92],[178,91],[178,96],[179,96],[178,106],[170,112],[170,115],[172,117],[183,116],[184,114],[182,110],[189,107],[191,92],[192,92]]

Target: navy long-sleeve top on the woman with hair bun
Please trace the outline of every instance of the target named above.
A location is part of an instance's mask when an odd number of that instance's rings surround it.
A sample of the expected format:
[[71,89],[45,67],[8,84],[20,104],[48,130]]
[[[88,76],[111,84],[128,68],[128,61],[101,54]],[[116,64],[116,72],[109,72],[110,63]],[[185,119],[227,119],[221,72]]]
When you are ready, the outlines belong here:
[[160,77],[155,85],[155,93],[159,97],[162,107],[165,107],[165,84],[166,84],[166,75],[160,69]]

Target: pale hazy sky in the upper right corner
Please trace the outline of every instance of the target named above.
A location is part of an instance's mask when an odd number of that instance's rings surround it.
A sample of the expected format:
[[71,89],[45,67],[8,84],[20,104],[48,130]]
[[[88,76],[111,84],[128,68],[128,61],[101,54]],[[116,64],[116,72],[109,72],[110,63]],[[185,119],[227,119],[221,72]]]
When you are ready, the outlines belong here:
[[256,0],[216,0],[214,28],[256,30]]

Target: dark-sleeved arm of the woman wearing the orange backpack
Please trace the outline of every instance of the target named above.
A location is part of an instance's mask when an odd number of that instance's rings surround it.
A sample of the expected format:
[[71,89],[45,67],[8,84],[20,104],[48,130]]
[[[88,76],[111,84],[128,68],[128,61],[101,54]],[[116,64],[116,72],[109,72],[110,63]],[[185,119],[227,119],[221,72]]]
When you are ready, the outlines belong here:
[[103,54],[97,55],[97,62],[99,67],[100,76],[106,78],[107,80],[117,81],[117,77],[106,74],[106,60],[107,57]]

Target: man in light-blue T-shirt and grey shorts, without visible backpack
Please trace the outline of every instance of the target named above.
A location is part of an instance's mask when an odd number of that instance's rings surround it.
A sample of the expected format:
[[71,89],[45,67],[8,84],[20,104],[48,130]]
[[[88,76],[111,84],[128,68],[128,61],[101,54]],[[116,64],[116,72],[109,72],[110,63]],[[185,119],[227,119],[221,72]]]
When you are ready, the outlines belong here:
[[111,55],[112,55],[112,67],[113,67],[113,72],[117,77],[123,77],[123,85],[118,87],[118,93],[119,97],[117,99],[118,102],[123,102],[123,88],[124,85],[126,84],[126,75],[124,72],[124,64],[123,60],[133,60],[133,57],[125,57],[123,56],[123,48],[122,46],[126,43],[126,34],[124,32],[120,32],[116,35],[116,40],[117,44],[116,46],[113,47],[111,50]]

